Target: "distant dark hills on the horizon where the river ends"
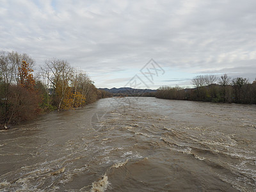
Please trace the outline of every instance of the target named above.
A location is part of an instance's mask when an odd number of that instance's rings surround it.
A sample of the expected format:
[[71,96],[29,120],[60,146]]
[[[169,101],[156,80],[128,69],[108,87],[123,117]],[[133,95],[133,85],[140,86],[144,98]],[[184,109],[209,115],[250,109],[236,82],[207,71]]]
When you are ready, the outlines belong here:
[[150,96],[154,97],[157,90],[150,89],[134,89],[130,87],[122,88],[99,88],[99,90],[104,90],[109,93],[113,93],[113,96]]

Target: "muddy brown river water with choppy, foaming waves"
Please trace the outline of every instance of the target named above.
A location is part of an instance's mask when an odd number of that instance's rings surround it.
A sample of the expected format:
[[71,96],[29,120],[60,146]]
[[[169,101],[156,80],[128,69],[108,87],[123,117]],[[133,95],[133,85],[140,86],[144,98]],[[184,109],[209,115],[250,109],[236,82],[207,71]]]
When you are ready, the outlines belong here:
[[256,191],[256,106],[101,99],[0,132],[0,191]]

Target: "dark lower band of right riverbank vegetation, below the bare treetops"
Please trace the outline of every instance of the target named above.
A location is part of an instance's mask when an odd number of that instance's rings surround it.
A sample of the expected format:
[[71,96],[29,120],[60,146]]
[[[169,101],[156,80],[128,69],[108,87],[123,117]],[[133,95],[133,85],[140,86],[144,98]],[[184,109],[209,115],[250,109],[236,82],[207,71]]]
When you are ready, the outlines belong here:
[[256,104],[256,83],[243,86],[211,84],[198,88],[161,87],[156,98],[204,102]]

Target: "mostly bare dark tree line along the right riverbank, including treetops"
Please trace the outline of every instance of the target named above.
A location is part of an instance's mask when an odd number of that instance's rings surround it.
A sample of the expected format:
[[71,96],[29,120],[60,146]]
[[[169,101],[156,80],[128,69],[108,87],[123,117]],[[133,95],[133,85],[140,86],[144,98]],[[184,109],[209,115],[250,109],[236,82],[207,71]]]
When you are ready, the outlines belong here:
[[223,74],[196,76],[191,80],[195,88],[179,86],[162,86],[156,92],[157,98],[198,100],[208,102],[234,102],[239,104],[256,104],[256,79],[253,83],[243,77],[234,79]]

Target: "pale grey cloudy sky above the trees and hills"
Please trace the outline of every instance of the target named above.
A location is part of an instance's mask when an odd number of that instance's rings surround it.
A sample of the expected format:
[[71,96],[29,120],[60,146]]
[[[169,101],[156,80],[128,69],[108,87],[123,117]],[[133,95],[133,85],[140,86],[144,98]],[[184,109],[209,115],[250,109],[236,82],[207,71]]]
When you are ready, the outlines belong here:
[[255,0],[0,0],[0,49],[26,52],[37,68],[67,60],[97,87],[223,73],[252,82],[255,10]]

